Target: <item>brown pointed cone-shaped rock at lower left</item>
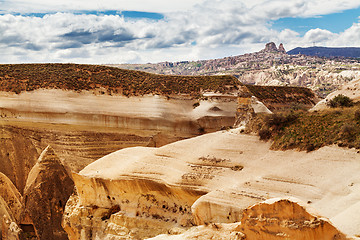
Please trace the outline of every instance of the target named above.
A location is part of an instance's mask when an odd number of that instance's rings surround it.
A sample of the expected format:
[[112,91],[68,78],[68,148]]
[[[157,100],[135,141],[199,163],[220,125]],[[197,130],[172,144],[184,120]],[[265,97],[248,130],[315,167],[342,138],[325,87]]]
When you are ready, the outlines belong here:
[[73,188],[72,179],[48,146],[29,173],[20,226],[32,225],[38,239],[67,239],[61,219]]

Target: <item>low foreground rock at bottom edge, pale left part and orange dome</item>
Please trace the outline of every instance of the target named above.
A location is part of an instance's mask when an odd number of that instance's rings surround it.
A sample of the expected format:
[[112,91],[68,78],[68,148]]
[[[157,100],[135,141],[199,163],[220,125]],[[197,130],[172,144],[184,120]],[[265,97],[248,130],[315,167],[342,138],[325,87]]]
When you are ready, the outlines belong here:
[[[236,206],[236,203],[233,204]],[[269,199],[246,208],[241,222],[211,223],[193,227],[180,235],[163,234],[151,240],[345,240],[348,239],[327,219],[311,213],[299,200]]]

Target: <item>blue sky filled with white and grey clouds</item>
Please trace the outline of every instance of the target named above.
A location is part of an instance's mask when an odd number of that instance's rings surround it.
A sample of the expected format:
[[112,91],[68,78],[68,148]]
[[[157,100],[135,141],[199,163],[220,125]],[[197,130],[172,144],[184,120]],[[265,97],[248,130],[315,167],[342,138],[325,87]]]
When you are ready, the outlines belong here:
[[203,60],[360,47],[360,0],[0,0],[0,63]]

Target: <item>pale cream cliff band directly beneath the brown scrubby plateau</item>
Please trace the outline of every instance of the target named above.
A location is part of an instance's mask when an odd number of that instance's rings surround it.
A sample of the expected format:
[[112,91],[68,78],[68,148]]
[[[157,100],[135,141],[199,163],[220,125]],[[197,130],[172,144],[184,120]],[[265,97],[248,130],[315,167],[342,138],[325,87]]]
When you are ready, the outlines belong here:
[[199,101],[188,96],[125,97],[59,89],[0,92],[0,116],[20,121],[197,133],[204,117],[217,119],[212,124],[220,129],[234,123],[235,112],[234,97]]

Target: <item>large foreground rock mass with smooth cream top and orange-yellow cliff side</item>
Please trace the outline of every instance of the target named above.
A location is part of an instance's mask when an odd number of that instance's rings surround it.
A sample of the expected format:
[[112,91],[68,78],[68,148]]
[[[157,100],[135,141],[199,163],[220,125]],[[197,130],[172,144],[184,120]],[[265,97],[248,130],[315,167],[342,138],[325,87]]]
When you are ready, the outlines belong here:
[[330,220],[346,219],[345,233],[360,233],[353,231],[359,217],[346,213],[358,208],[359,153],[269,146],[222,131],[114,152],[74,175],[78,196],[68,202],[63,226],[70,239],[143,239],[194,224],[238,222],[254,203],[292,196]]

